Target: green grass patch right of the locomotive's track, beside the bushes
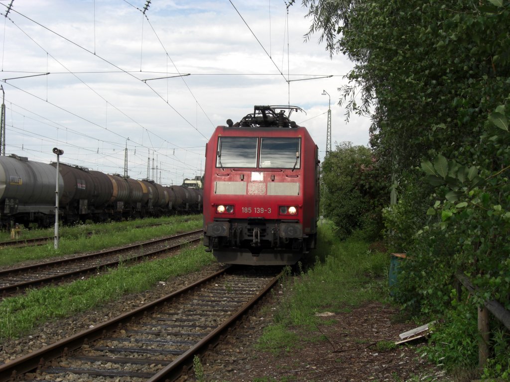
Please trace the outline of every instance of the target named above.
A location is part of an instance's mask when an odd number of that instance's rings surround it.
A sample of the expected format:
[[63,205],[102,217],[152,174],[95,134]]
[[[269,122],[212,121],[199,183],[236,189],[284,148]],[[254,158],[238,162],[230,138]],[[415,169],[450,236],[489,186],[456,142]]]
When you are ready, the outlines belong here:
[[295,335],[289,328],[302,327],[310,341],[316,340],[320,312],[345,312],[368,301],[381,301],[388,295],[388,258],[369,250],[369,243],[350,238],[339,241],[328,224],[320,226],[318,249],[325,253],[310,270],[301,271],[300,280],[290,284],[292,293],[284,299],[259,340],[259,348],[273,353],[292,349]]

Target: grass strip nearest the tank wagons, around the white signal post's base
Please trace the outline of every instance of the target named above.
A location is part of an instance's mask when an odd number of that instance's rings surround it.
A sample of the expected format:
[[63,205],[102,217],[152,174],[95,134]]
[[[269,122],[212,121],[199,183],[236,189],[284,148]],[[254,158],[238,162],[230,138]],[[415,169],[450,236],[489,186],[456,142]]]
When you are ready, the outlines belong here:
[[[136,228],[140,225],[165,223],[162,226]],[[27,248],[4,248],[0,256],[0,266],[8,266],[20,261],[41,260],[48,257],[63,256],[74,253],[99,251],[109,247],[121,247],[135,241],[148,240],[153,237],[172,235],[180,232],[202,228],[202,216],[171,216],[160,219],[143,219],[129,222],[108,224],[84,224],[63,227],[60,230],[59,249],[55,250],[53,240],[47,244]],[[88,236],[88,232],[94,232]],[[7,235],[5,232],[3,235]],[[25,230],[22,237],[53,236],[53,230]],[[0,240],[8,240],[3,238]]]

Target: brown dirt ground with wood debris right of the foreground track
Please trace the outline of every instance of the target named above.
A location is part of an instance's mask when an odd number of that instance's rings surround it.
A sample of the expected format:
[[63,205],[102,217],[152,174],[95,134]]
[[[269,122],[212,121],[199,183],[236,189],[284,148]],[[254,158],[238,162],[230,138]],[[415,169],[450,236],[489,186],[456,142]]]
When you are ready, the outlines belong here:
[[256,313],[202,361],[205,376],[210,381],[230,382],[450,381],[420,356],[423,343],[391,348],[400,333],[413,329],[409,323],[392,321],[396,314],[391,307],[372,303],[326,315],[316,333],[293,328],[299,338],[297,346],[272,354],[253,346],[264,326],[271,323]]

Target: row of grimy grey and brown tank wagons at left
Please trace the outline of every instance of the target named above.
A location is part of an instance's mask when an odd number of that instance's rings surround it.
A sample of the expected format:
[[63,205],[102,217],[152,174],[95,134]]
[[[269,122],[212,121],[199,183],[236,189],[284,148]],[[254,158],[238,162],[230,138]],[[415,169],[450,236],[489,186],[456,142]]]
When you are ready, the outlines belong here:
[[[17,155],[0,156],[0,226],[55,221],[56,163]],[[105,222],[175,213],[200,213],[202,190],[162,186],[60,163],[59,219]]]

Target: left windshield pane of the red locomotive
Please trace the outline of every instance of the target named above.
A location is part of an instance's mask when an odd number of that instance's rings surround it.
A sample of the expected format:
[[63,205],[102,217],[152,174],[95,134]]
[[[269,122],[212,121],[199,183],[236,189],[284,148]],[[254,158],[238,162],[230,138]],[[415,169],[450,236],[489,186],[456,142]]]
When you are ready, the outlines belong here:
[[256,137],[220,137],[216,167],[257,167]]

